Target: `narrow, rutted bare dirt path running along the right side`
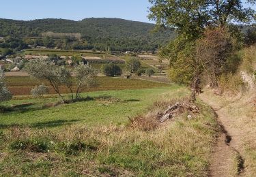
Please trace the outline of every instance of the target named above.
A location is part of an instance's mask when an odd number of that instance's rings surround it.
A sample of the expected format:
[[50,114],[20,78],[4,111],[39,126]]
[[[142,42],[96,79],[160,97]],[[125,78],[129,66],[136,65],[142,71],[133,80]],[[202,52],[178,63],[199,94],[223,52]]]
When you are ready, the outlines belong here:
[[223,134],[218,137],[216,148],[210,166],[210,176],[243,176],[244,160],[241,156],[241,138],[244,134],[233,125],[232,116],[229,115],[227,105],[220,105],[209,99],[208,94],[201,94],[200,99],[208,103],[216,114],[223,127]]

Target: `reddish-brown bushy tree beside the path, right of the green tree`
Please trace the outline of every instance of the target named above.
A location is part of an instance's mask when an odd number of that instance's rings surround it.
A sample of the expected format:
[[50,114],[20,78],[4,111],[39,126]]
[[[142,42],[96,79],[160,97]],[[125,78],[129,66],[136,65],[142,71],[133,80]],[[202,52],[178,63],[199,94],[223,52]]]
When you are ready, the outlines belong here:
[[213,87],[218,86],[218,77],[226,70],[225,64],[232,48],[230,34],[223,27],[207,29],[203,33],[203,38],[197,40],[196,57],[208,74]]

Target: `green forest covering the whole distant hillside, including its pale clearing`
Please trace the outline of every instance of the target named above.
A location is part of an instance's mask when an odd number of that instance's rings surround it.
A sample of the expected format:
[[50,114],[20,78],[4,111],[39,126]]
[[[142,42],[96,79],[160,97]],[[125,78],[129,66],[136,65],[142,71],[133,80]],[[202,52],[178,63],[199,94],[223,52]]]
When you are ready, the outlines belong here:
[[152,34],[150,30],[153,28],[150,23],[117,18],[86,18],[81,21],[0,19],[0,36],[25,37],[29,45],[73,50],[104,51],[106,44],[112,51],[156,50],[175,36],[170,30]]

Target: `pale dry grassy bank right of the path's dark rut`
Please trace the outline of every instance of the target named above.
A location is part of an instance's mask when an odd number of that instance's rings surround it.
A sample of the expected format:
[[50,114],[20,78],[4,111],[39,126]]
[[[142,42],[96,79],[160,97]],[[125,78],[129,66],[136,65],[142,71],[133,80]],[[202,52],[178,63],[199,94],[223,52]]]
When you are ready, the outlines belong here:
[[256,107],[255,90],[244,92],[238,97],[217,96],[211,91],[203,95],[216,110],[221,110],[229,125],[229,133],[233,135],[233,146],[244,158],[245,176],[256,174]]

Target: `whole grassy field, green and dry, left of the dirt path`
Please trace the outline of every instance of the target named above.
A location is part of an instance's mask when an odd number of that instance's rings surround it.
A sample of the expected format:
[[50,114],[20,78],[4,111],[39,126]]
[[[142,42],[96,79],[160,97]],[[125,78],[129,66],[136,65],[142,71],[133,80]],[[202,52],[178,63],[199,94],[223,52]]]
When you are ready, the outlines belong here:
[[186,112],[162,125],[154,126],[152,119],[186,97],[186,88],[83,93],[87,95],[93,99],[49,108],[55,98],[10,101],[12,109],[0,113],[1,175],[208,175],[218,133],[212,110],[198,102],[200,114],[192,120]]

